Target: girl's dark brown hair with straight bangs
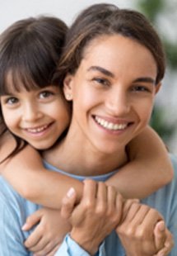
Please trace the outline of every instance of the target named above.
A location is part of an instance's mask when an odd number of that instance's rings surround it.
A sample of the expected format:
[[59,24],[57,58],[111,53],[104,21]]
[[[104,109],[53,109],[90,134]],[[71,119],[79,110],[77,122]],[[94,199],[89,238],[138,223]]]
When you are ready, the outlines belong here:
[[[56,17],[16,21],[0,36],[0,97],[21,88],[30,91],[52,84],[68,27]],[[7,83],[11,74],[12,83]],[[10,132],[0,107],[0,138]],[[26,143],[16,137],[16,154]]]

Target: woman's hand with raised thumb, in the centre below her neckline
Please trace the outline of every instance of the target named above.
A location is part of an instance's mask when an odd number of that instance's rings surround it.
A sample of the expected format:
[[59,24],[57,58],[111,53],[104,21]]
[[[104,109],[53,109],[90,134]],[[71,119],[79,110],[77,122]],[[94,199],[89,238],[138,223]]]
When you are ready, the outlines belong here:
[[74,209],[73,206],[73,197],[63,199],[61,214],[71,222],[70,235],[89,254],[95,254],[100,243],[119,224],[122,197],[114,187],[86,180],[82,200]]

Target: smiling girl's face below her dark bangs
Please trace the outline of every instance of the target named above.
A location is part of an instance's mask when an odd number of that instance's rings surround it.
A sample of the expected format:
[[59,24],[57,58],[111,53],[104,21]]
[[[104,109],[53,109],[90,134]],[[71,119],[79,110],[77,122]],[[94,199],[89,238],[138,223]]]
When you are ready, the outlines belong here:
[[48,149],[69,124],[68,106],[56,86],[23,90],[1,97],[9,130],[35,149]]

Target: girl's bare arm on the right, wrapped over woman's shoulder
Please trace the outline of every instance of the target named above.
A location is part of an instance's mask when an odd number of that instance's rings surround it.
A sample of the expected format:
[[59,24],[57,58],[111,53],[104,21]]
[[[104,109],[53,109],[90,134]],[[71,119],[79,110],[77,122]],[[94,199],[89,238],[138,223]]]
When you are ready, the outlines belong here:
[[125,198],[143,198],[170,183],[173,168],[165,145],[150,126],[128,145],[129,163],[106,182]]

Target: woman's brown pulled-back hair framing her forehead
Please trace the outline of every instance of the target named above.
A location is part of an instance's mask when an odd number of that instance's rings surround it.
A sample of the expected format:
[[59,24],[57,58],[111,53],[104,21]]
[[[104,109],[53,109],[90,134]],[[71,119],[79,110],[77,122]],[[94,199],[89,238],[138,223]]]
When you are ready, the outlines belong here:
[[137,40],[147,47],[156,60],[156,83],[165,73],[165,54],[161,40],[151,23],[140,12],[119,9],[113,4],[94,4],[86,8],[68,31],[66,45],[54,83],[63,83],[67,73],[75,73],[82,61],[84,50],[91,40],[105,35],[119,34]]

